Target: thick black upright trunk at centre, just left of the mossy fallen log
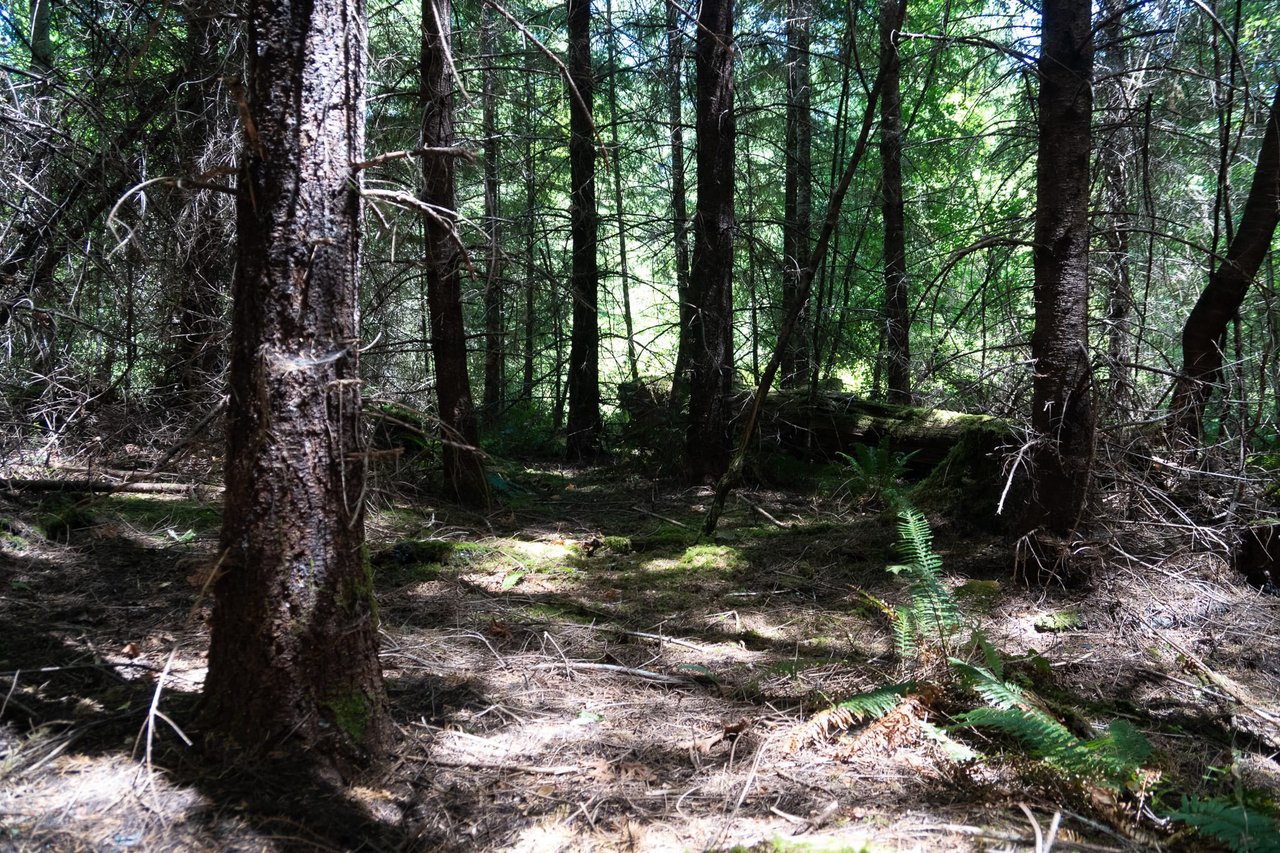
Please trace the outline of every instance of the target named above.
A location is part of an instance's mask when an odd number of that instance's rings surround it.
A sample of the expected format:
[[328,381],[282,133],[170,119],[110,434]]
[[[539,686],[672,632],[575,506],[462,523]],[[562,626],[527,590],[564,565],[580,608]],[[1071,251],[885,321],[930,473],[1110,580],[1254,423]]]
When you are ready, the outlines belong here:
[[726,401],[733,383],[733,0],[698,13],[698,209],[690,270],[686,455],[694,480],[728,466]]

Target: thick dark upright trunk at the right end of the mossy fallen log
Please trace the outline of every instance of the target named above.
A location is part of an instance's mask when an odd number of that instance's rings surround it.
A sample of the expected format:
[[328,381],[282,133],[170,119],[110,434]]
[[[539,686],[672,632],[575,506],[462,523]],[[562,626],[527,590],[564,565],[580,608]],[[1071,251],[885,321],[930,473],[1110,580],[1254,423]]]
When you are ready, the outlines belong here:
[[1093,455],[1089,387],[1089,0],[1046,0],[1036,165],[1032,494],[1024,530],[1065,535],[1084,511]]

